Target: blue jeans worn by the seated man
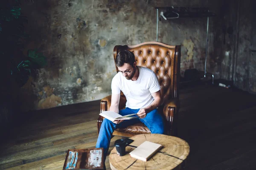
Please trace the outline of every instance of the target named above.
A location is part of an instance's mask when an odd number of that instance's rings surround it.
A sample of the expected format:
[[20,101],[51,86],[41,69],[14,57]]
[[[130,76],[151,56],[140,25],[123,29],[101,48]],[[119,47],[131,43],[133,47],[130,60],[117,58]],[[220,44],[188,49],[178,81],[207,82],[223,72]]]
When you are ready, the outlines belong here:
[[[123,110],[120,110],[119,114],[122,116],[125,116],[132,113],[138,113],[139,110],[140,109],[125,108]],[[96,148],[99,148],[99,147],[104,148],[104,160],[106,159],[106,156],[108,153],[108,148],[109,148],[113,131],[115,129],[124,128],[139,122],[144,123],[144,125],[148,127],[151,133],[159,133],[159,134],[164,133],[163,118],[158,113],[157,109],[154,109],[153,111],[147,113],[146,117],[143,119],[138,117],[138,119],[125,120],[119,124],[115,124],[108,119],[103,120],[99,130],[99,137],[96,143]]]

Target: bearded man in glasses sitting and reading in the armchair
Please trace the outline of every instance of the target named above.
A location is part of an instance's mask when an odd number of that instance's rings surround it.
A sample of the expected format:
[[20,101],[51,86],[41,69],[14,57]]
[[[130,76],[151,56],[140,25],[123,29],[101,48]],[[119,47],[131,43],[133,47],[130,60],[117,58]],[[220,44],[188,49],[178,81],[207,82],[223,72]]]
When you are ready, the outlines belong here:
[[[120,51],[115,60],[118,73],[111,83],[112,96],[110,111],[122,116],[137,113],[137,119],[116,120],[104,119],[99,131],[96,147],[104,148],[106,159],[112,133],[117,128],[124,128],[142,122],[151,133],[164,133],[163,118],[157,107],[161,104],[160,85],[156,74],[149,68],[136,65],[131,51]],[[119,111],[120,92],[123,92],[127,102],[125,109]]]

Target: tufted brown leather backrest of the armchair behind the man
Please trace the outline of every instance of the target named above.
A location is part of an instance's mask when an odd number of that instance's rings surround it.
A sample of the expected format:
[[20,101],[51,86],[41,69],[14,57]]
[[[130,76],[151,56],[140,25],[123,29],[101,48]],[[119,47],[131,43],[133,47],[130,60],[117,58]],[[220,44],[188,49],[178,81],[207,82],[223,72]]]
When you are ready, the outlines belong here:
[[[144,42],[138,45],[116,45],[114,59],[119,51],[129,50],[134,53],[138,66],[146,67],[157,75],[161,87],[163,103],[170,98],[178,98],[180,67],[180,45],[166,45],[161,42]],[[116,71],[118,68],[116,67]]]

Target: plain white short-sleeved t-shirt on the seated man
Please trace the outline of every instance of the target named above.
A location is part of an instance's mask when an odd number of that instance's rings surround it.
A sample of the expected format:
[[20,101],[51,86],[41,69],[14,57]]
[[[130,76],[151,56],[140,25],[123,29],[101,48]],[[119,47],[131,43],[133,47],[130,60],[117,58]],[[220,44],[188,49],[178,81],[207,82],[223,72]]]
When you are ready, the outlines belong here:
[[131,109],[145,108],[154,101],[151,93],[160,90],[160,85],[154,71],[138,66],[140,74],[136,81],[126,79],[122,73],[117,73],[111,83],[112,94],[122,91],[127,99],[126,107]]

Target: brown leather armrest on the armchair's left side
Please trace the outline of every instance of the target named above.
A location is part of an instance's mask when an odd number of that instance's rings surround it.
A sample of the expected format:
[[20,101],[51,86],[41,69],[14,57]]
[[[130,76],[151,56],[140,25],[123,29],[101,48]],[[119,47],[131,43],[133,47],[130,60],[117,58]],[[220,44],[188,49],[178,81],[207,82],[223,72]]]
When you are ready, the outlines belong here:
[[[119,100],[119,110],[121,110],[125,107],[125,103],[126,103],[126,98],[123,94],[121,94],[120,100]],[[100,112],[109,111],[110,106],[111,106],[111,95],[106,96],[101,100],[101,102],[100,102]],[[100,127],[102,125],[103,119],[104,119],[104,117],[99,116],[99,118],[97,120],[98,134],[99,134],[99,130],[100,130]]]

